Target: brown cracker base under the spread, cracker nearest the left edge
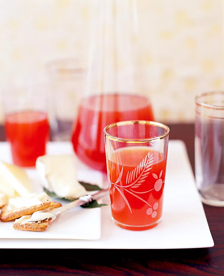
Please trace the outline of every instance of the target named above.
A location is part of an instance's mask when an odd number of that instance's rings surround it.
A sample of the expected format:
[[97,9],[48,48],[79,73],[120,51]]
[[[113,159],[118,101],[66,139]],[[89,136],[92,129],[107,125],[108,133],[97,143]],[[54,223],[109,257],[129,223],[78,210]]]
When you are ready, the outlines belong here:
[[24,215],[33,214],[36,211],[40,211],[40,210],[50,207],[50,202],[51,202],[50,200],[47,200],[43,204],[31,206],[29,208],[22,208],[22,209],[16,209],[16,208],[10,209],[9,205],[5,205],[1,209],[0,220],[1,221],[11,221],[16,218],[21,218]]

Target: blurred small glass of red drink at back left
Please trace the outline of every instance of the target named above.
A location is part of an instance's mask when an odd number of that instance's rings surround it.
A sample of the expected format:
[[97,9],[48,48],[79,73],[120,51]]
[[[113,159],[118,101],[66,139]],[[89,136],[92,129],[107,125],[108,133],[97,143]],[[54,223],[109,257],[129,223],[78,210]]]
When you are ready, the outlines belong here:
[[12,160],[21,167],[34,167],[46,154],[50,124],[45,85],[13,85],[4,91],[4,125]]

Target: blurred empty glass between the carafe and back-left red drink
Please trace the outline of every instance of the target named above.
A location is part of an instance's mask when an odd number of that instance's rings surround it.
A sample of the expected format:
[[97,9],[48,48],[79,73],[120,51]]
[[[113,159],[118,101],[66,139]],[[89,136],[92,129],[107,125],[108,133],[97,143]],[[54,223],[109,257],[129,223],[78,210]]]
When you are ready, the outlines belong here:
[[84,94],[86,70],[76,58],[59,58],[46,65],[51,95],[51,139],[70,141],[74,117]]

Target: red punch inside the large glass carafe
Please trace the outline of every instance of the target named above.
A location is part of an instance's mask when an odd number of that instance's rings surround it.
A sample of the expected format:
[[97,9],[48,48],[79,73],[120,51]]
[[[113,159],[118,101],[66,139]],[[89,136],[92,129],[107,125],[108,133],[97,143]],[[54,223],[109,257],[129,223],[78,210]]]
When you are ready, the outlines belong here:
[[126,120],[154,120],[148,98],[130,94],[90,96],[82,100],[73,126],[76,155],[86,165],[107,171],[103,129]]

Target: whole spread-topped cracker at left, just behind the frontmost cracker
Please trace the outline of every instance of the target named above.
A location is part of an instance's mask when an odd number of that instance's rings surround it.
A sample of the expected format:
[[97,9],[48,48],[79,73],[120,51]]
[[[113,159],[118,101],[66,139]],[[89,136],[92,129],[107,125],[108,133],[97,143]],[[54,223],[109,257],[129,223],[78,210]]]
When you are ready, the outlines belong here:
[[8,204],[1,209],[0,220],[11,221],[23,215],[30,215],[50,207],[50,204],[50,197],[45,192],[10,198]]

